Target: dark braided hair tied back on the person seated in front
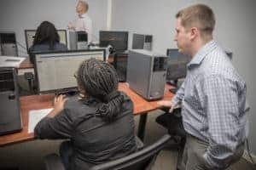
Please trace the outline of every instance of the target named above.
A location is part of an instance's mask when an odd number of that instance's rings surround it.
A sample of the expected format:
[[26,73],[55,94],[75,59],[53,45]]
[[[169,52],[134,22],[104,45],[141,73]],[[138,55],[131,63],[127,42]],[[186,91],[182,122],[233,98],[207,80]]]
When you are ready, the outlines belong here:
[[118,76],[113,66],[101,60],[87,59],[79,66],[77,78],[85,95],[102,101],[96,115],[108,122],[113,121],[124,102],[118,91]]

